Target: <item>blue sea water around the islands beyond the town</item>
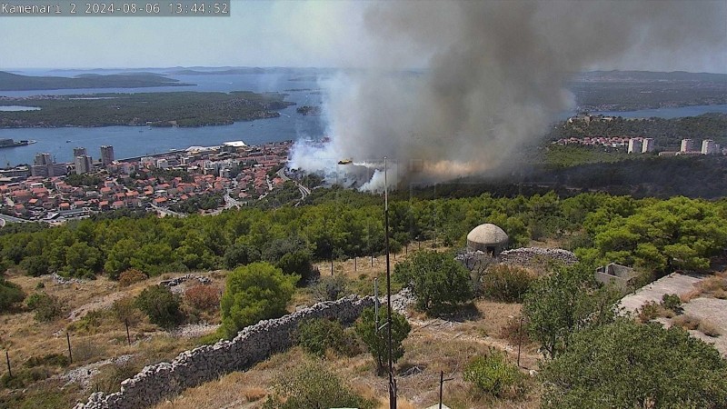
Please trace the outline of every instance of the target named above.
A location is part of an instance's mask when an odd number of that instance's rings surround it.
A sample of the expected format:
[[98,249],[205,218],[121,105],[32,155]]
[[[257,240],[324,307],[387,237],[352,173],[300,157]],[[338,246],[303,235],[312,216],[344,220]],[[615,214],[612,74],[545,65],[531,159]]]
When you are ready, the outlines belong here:
[[[121,72],[120,70],[118,72]],[[159,154],[189,146],[214,146],[229,141],[244,141],[247,145],[262,145],[269,142],[297,140],[301,137],[320,139],[325,135],[325,118],[322,115],[301,115],[295,109],[300,105],[322,105],[325,94],[322,82],[330,71],[316,73],[310,69],[285,71],[225,74],[225,75],[174,75],[167,71],[144,70],[166,74],[182,83],[192,86],[161,86],[152,88],[104,88],[104,89],[62,89],[39,91],[0,91],[4,96],[31,95],[89,95],[100,93],[150,93],[179,91],[254,91],[279,92],[286,94],[292,105],[280,111],[280,116],[237,122],[234,125],[203,126],[196,128],[153,128],[149,126],[105,126],[105,127],[62,127],[0,129],[0,139],[15,141],[35,140],[35,144],[0,149],[0,167],[32,164],[35,154],[49,153],[56,162],[73,161],[73,149],[85,147],[88,155],[98,159],[102,145],[114,146],[115,157]],[[74,76],[81,74],[114,74],[110,70],[64,70],[64,71],[13,71],[23,75]],[[12,110],[32,109],[32,104],[13,106]],[[727,113],[727,105],[697,105],[681,108],[647,109],[631,112],[594,112],[594,115],[615,115],[622,117],[663,118],[695,116],[708,112]],[[2,115],[2,114],[0,114]],[[567,115],[566,115],[567,116]]]

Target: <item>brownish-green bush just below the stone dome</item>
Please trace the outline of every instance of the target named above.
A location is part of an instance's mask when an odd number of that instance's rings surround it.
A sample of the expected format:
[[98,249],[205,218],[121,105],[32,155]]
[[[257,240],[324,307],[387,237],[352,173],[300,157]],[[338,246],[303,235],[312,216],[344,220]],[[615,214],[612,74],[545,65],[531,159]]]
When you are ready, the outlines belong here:
[[523,267],[493,265],[483,274],[483,295],[505,303],[522,303],[534,280],[535,276]]

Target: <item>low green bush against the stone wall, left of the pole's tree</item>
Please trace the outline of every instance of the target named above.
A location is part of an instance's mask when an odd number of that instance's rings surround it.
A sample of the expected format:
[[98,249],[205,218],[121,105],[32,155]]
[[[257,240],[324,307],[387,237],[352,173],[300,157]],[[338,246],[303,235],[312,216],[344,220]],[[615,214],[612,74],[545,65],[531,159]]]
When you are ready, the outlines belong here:
[[344,326],[337,320],[326,318],[305,320],[298,325],[294,339],[305,351],[319,357],[324,357],[328,349],[349,356],[359,352],[355,338],[346,334]]

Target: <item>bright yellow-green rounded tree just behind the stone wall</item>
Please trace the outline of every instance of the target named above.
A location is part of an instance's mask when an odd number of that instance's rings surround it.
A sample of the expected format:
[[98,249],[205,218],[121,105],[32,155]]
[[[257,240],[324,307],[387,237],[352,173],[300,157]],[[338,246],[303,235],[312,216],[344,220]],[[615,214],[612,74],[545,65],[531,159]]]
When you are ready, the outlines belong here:
[[227,275],[222,296],[224,334],[232,338],[247,325],[285,314],[298,277],[268,263],[253,263]]

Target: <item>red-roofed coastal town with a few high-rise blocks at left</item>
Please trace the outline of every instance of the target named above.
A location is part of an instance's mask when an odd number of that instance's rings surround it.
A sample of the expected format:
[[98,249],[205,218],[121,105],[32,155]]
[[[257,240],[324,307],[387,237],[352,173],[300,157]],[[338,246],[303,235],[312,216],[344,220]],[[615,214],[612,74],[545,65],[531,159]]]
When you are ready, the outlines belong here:
[[115,160],[114,147],[105,145],[97,161],[84,147],[76,147],[75,161],[68,164],[41,153],[34,165],[0,170],[0,213],[15,222],[52,224],[120,209],[216,214],[283,185],[292,144],[234,141],[120,160]]

